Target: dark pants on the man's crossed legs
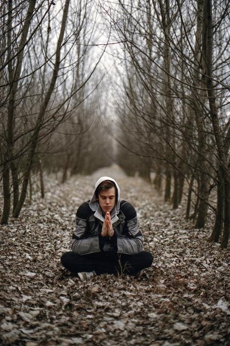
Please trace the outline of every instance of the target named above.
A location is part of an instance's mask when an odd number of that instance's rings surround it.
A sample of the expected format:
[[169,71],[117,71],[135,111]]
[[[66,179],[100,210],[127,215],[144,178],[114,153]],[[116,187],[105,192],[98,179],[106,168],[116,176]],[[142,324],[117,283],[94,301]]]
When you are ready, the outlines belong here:
[[137,271],[150,267],[152,261],[153,257],[148,251],[133,255],[117,254],[115,252],[77,255],[70,251],[61,257],[63,266],[72,273],[95,270],[97,275],[116,273],[133,275]]

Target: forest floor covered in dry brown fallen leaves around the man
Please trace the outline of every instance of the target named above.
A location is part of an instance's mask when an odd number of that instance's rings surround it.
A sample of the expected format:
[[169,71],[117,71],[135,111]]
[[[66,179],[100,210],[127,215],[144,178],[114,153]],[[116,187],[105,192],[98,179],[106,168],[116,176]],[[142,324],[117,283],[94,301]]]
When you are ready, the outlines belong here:
[[[110,174],[137,210],[154,262],[142,279],[102,275],[81,282],[60,256],[70,250],[77,207]],[[118,167],[60,185],[46,177],[18,219],[1,228],[0,343],[3,345],[227,345],[229,249]],[[0,203],[1,205],[1,203]]]

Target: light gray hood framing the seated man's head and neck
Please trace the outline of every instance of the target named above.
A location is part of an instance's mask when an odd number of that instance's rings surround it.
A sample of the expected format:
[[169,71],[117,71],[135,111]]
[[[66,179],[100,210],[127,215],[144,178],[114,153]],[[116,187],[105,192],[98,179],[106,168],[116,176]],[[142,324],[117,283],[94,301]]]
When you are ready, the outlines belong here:
[[119,187],[118,183],[116,182],[116,180],[114,180],[110,177],[99,178],[95,184],[94,194],[93,194],[93,197],[91,198],[91,200],[89,202],[89,207],[91,210],[95,211],[95,213],[94,213],[95,217],[97,217],[101,221],[104,221],[104,216],[102,215],[102,210],[101,210],[101,207],[99,205],[99,202],[96,199],[96,194],[95,194],[98,185],[101,184],[104,180],[112,181],[116,185],[117,191],[118,191],[117,201],[116,201],[116,204],[114,205],[114,208],[112,209],[111,215],[110,215],[112,224],[114,224],[118,220],[118,213],[120,211],[120,202],[122,201],[120,199],[121,190],[120,190],[120,187]]

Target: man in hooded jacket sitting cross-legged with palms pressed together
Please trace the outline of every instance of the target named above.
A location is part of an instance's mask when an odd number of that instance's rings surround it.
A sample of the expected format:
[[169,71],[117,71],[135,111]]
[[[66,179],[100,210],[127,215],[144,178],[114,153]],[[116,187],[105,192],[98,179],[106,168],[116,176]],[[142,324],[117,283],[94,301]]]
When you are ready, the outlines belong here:
[[140,278],[152,261],[143,251],[135,209],[120,198],[114,179],[101,177],[91,200],[77,210],[72,251],[62,255],[61,263],[85,281],[101,274]]

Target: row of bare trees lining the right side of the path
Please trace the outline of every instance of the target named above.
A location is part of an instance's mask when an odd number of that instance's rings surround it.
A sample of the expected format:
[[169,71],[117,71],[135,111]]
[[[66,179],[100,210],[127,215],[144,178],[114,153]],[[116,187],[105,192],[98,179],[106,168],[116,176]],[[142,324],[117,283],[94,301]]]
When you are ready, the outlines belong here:
[[119,163],[127,174],[139,171],[148,180],[154,172],[158,190],[164,177],[165,201],[173,208],[186,194],[186,217],[196,228],[204,227],[211,208],[216,214],[211,239],[219,241],[222,233],[222,247],[230,227],[229,5],[228,0],[101,4],[123,45]]

